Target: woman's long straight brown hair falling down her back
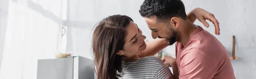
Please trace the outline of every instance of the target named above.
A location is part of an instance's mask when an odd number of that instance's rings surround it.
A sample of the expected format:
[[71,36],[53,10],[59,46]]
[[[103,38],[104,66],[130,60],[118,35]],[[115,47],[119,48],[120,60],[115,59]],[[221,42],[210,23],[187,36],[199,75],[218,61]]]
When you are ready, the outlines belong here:
[[128,16],[112,15],[96,25],[92,49],[98,79],[118,79],[122,76],[122,56],[117,53],[123,49],[125,28],[131,21]]

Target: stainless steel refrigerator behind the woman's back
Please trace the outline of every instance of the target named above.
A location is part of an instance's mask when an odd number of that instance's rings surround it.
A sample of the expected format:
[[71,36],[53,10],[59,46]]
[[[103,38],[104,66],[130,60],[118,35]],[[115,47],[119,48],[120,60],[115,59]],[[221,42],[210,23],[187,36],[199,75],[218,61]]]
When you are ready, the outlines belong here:
[[96,79],[92,59],[68,56],[38,59],[37,79]]

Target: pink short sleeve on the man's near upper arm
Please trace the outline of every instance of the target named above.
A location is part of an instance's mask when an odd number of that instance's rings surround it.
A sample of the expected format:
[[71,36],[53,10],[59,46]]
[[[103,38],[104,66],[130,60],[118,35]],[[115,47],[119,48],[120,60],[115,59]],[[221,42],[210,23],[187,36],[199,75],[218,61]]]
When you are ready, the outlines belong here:
[[212,60],[195,48],[183,53],[179,69],[179,79],[212,79],[216,73]]

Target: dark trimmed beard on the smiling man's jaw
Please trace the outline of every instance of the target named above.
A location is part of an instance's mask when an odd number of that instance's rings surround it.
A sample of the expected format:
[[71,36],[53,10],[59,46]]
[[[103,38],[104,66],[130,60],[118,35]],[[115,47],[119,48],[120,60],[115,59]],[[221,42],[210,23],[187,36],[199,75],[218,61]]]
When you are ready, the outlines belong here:
[[169,31],[167,33],[168,37],[166,38],[169,45],[172,45],[177,41],[177,34],[177,31],[175,31],[173,28],[169,28]]

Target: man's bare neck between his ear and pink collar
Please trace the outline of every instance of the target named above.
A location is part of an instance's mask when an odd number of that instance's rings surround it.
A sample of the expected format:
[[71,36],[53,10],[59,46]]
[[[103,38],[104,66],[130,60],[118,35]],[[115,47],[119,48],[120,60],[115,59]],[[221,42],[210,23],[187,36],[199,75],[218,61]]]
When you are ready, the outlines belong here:
[[197,25],[194,25],[190,20],[184,20],[183,29],[180,31],[180,37],[178,42],[186,46],[190,35],[198,29]]

